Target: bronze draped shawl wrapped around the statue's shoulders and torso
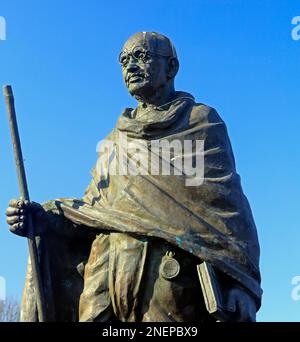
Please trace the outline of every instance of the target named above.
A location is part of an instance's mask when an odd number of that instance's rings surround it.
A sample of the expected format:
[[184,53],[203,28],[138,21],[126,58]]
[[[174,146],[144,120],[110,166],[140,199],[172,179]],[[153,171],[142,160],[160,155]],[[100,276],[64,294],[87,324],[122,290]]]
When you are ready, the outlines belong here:
[[[125,109],[105,139],[104,143],[110,142],[114,148],[100,150],[84,197],[57,199],[48,202],[45,208],[59,213],[74,227],[89,231],[117,231],[164,239],[229,275],[253,296],[258,309],[262,290],[257,231],[223,120],[215,109],[195,103],[192,95],[183,92],[177,92],[173,101],[151,108],[145,115],[137,116],[139,110],[139,107]],[[120,141],[120,134],[126,135],[126,146],[124,140]],[[178,150],[171,151],[170,175],[116,172],[124,163],[124,155],[132,160],[137,150],[139,166],[149,171],[145,161],[149,160],[151,143],[162,140],[170,144],[179,141],[182,146],[184,141],[192,141],[192,151],[182,148],[179,155],[176,155]],[[202,151],[197,151],[197,141],[203,141]],[[195,162],[201,153],[204,161],[201,184],[187,186],[192,176],[184,172],[176,174],[175,160],[190,158]],[[159,155],[161,162],[163,159]],[[61,229],[64,228],[58,228]],[[77,259],[78,255],[83,258],[89,243],[82,240],[84,253],[77,243],[77,250],[72,252]]]

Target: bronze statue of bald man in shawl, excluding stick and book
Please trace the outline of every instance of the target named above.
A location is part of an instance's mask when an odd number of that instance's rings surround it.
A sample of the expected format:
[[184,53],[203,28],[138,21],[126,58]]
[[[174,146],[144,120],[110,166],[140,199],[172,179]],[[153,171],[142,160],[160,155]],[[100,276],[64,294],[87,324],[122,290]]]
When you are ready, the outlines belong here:
[[[215,320],[197,274],[205,261],[218,274],[224,320],[255,321],[259,243],[224,122],[215,109],[175,91],[179,62],[167,37],[134,34],[119,62],[138,105],[123,111],[105,139],[114,148],[100,151],[84,197],[43,205],[12,200],[7,209],[10,230],[21,236],[27,213],[33,215],[47,320]],[[147,152],[162,141],[174,143],[171,172],[148,172]],[[191,149],[180,154],[175,145],[186,141]],[[193,184],[188,169],[178,172],[178,161],[197,160],[197,141],[203,141],[204,164]],[[135,165],[145,172],[126,169],[137,150]],[[159,153],[151,161],[157,156],[163,163]],[[30,263],[21,319],[37,320]]]

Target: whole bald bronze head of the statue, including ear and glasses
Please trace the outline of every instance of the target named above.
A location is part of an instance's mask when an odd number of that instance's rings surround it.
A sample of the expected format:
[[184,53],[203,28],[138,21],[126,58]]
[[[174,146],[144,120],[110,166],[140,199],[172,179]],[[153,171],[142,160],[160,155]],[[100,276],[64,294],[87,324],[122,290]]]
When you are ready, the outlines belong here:
[[174,89],[179,63],[172,42],[162,34],[134,34],[124,44],[119,62],[129,93],[139,101],[147,102],[162,89]]

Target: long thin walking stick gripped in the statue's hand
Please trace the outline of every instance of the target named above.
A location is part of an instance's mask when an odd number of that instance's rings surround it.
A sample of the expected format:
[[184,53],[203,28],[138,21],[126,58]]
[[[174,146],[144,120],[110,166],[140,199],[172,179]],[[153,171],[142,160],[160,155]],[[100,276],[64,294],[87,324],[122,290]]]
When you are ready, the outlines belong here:
[[[25,175],[25,168],[23,163],[23,156],[22,156],[22,149],[16,119],[16,112],[15,112],[15,105],[14,105],[14,95],[12,92],[12,87],[6,85],[3,87],[3,93],[6,101],[7,106],[7,113],[8,113],[8,122],[10,127],[11,139],[14,149],[14,156],[16,161],[16,169],[21,193],[22,200],[30,200],[29,193],[27,188],[27,181]],[[37,310],[38,310],[38,319],[39,322],[46,321],[46,306],[45,306],[45,297],[43,293],[43,287],[41,282],[41,274],[39,270],[39,261],[38,261],[38,252],[36,246],[36,240],[34,236],[34,227],[32,224],[32,217],[31,214],[28,214],[28,248],[29,248],[29,256],[32,265],[32,275],[33,275],[33,282],[34,282],[34,291],[36,295],[36,303],[37,303]]]

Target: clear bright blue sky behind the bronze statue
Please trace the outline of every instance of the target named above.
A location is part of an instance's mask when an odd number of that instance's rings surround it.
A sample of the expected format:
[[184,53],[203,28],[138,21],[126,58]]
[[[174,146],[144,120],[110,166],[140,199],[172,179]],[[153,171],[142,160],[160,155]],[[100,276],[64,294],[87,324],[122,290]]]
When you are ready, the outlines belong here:
[[[1,1],[0,84],[14,87],[31,198],[81,197],[96,144],[134,105],[118,53],[137,31],[158,31],[180,58],[178,90],[226,121],[261,244],[259,321],[299,321],[291,280],[300,275],[300,40],[295,0]],[[21,296],[27,243],[7,230],[18,197],[0,97],[0,276]]]

